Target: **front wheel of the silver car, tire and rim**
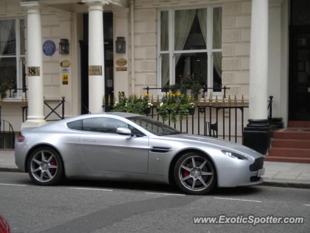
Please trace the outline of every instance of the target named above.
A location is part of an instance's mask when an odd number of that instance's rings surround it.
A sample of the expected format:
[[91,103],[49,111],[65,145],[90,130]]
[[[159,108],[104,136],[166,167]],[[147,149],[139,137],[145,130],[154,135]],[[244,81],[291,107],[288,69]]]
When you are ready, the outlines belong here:
[[182,155],[174,166],[173,174],[177,186],[188,194],[207,194],[217,185],[217,171],[213,162],[199,152]]

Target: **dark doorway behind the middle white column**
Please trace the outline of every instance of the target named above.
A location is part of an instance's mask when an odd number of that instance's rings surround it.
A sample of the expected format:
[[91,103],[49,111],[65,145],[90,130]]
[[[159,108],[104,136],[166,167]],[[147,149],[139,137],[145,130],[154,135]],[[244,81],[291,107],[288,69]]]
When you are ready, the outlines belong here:
[[[105,53],[105,96],[113,100],[113,14],[103,13]],[[81,114],[88,112],[88,14],[83,15],[83,40],[79,41],[81,53]],[[110,98],[109,98],[110,97]]]

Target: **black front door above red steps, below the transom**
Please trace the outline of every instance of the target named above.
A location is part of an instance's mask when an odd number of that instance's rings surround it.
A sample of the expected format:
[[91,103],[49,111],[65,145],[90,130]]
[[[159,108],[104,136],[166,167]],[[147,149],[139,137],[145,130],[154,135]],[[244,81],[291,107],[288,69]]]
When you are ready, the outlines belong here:
[[290,32],[289,120],[310,120],[310,30]]

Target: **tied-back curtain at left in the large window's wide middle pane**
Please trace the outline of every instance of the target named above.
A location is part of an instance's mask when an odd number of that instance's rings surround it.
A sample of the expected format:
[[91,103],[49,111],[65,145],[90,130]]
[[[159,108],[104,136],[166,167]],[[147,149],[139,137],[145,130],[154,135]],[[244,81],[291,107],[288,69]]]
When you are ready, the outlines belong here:
[[[192,27],[197,9],[175,11],[174,25],[174,50],[183,50],[188,33]],[[174,54],[175,66],[181,54]]]

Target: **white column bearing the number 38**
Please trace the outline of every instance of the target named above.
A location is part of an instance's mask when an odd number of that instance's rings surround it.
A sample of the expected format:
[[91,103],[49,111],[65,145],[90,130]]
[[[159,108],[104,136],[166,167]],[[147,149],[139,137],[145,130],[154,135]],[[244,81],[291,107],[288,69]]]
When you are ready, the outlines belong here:
[[40,6],[37,1],[22,2],[27,8],[27,70],[36,69],[28,75],[28,120],[22,128],[46,124],[43,99],[43,61]]

